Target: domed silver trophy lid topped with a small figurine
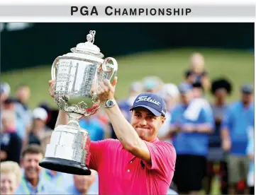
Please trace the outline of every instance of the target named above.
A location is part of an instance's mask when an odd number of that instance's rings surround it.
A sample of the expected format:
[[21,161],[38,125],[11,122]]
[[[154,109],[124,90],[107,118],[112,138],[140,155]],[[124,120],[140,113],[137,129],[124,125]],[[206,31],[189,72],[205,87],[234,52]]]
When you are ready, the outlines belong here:
[[103,58],[104,54],[101,53],[99,47],[94,45],[95,34],[95,30],[90,30],[89,34],[87,35],[87,42],[81,42],[77,44],[77,47],[73,47],[70,49],[71,52]]

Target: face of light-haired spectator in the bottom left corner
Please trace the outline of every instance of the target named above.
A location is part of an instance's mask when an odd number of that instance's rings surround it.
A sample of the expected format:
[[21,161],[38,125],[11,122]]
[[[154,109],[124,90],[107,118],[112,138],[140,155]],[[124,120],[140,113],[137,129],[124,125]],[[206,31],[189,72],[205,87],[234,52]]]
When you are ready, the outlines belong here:
[[16,175],[13,172],[1,173],[1,194],[14,194],[18,187]]

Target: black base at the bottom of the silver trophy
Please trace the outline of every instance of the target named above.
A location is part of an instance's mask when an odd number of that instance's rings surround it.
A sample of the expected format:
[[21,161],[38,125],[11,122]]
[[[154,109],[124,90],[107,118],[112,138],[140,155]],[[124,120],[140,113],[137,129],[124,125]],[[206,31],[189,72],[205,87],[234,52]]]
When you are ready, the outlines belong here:
[[39,165],[45,169],[57,172],[65,172],[74,175],[91,175],[91,170],[74,160],[45,157],[39,162]]

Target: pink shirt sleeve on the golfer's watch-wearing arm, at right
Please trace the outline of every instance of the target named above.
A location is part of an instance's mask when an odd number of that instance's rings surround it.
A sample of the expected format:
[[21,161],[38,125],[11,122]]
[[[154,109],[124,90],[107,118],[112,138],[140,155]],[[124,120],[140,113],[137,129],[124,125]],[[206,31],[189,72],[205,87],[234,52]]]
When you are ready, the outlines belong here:
[[171,143],[165,141],[158,141],[157,143],[145,141],[145,143],[150,150],[151,165],[146,164],[149,170],[157,170],[162,175],[174,171],[176,151]]

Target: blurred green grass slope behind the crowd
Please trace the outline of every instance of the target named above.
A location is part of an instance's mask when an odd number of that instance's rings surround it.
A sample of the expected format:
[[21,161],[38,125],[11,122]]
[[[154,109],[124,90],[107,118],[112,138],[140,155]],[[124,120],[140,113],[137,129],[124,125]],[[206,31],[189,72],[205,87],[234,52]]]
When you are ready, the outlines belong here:
[[[191,52],[201,52],[206,60],[206,69],[210,78],[225,76],[233,83],[233,94],[230,101],[239,97],[239,87],[243,83],[254,82],[254,54],[250,51],[226,49],[164,49],[154,52],[131,54],[116,57],[118,61],[118,85],[116,97],[126,98],[128,86],[132,81],[139,81],[144,76],[160,76],[167,83],[179,84],[184,71],[189,65]],[[31,88],[30,108],[40,102],[55,103],[48,95],[48,80],[50,80],[51,65],[35,68],[9,71],[1,74],[1,81],[11,85],[13,95],[16,86],[24,83]],[[211,98],[207,94],[208,98]]]

